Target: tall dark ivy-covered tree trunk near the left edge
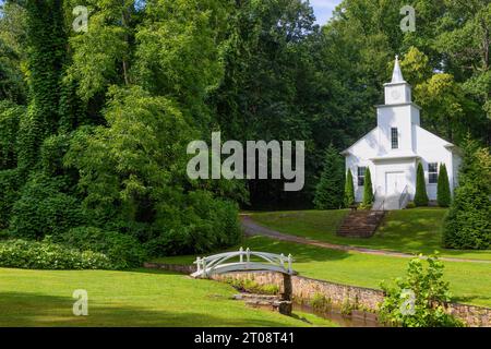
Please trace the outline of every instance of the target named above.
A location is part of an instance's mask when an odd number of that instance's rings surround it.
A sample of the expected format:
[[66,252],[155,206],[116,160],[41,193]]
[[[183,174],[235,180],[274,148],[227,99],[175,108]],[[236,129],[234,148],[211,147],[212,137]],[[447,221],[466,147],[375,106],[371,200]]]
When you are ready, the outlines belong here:
[[37,165],[40,146],[58,129],[67,35],[62,0],[26,1],[29,106],[20,125],[19,166]]

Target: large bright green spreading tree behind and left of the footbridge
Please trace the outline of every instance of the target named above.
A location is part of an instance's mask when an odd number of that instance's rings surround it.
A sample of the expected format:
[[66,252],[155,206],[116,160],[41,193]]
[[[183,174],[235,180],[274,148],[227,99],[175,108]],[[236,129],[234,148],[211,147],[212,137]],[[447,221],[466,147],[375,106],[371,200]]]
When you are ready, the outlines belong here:
[[65,156],[81,171],[89,226],[136,234],[156,255],[237,243],[235,204],[187,177],[185,149],[199,133],[176,103],[136,86],[110,93],[108,127],[79,130]]

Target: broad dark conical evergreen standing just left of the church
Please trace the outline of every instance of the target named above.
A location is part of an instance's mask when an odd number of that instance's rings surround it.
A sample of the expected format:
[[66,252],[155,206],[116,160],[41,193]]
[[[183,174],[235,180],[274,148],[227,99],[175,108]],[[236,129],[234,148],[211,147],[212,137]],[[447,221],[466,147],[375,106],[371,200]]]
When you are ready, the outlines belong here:
[[343,206],[344,167],[345,164],[337,149],[330,146],[325,153],[324,169],[315,189],[315,208],[337,209]]

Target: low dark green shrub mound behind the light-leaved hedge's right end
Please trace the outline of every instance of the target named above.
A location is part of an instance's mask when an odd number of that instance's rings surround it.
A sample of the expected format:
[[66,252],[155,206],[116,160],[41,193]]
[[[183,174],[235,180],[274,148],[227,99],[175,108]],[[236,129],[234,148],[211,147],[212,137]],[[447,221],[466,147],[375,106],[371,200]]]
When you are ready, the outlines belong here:
[[79,227],[55,238],[56,242],[80,251],[104,253],[116,269],[137,267],[145,262],[146,253],[135,238],[94,227]]

